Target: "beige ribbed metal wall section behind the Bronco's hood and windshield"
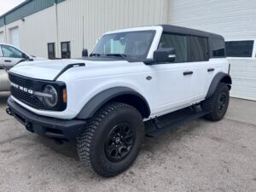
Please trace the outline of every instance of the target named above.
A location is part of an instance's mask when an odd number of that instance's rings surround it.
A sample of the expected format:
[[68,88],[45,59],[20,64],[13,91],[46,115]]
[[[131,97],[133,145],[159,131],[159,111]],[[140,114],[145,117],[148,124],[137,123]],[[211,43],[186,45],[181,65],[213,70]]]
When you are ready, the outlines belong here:
[[103,32],[166,23],[166,0],[66,0],[58,4],[60,42],[71,42],[71,56],[80,57],[84,47],[90,51]]

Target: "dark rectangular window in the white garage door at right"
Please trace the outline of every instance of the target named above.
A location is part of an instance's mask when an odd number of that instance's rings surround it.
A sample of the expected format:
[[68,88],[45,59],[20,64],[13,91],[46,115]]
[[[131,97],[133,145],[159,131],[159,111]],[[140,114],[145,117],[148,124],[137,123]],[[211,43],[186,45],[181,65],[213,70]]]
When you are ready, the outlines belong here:
[[252,57],[253,41],[226,42],[226,51],[230,57]]

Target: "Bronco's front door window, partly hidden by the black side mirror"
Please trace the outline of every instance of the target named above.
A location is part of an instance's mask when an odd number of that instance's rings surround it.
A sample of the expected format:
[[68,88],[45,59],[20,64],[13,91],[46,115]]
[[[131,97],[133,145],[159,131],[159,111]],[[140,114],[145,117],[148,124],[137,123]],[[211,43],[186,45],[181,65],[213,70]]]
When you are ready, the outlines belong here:
[[176,52],[175,62],[188,61],[188,38],[183,35],[162,34],[159,48],[174,48]]

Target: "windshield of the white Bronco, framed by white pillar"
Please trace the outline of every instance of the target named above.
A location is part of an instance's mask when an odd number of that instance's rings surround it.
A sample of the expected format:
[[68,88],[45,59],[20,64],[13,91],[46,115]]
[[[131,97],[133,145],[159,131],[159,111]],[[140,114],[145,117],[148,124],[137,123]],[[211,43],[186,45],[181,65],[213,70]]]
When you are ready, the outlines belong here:
[[145,59],[154,38],[154,31],[118,32],[102,36],[91,56],[119,56]]

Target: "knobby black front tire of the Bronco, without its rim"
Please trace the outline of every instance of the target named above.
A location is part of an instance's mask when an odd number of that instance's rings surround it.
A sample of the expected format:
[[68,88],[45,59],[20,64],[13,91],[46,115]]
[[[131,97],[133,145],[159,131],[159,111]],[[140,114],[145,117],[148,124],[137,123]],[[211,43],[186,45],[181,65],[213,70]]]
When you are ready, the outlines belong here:
[[[105,153],[105,141],[113,126],[120,122],[128,122],[136,128],[134,144],[124,160],[113,162]],[[80,160],[94,172],[102,177],[113,177],[124,172],[137,159],[143,138],[144,124],[141,113],[125,103],[111,102],[89,119],[84,131],[77,138],[77,150]]]

